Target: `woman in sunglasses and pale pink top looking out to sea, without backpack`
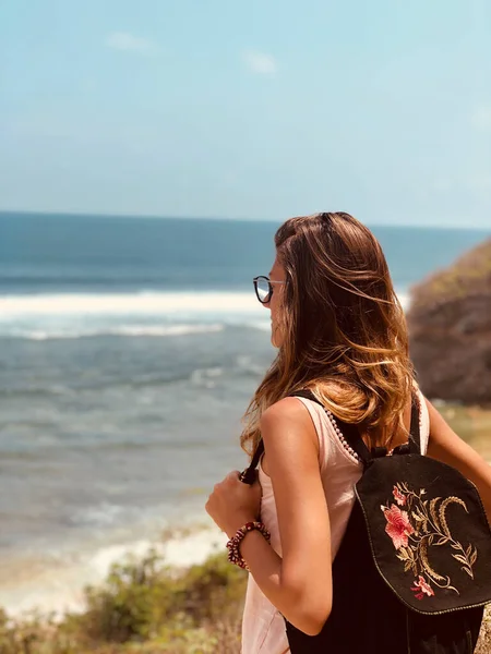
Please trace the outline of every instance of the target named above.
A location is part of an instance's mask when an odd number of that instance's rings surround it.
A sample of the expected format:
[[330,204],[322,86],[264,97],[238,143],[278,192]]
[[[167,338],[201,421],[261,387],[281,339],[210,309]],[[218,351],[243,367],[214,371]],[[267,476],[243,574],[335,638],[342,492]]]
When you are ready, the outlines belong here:
[[[270,279],[254,280],[271,311],[277,356],[246,414],[242,448],[263,438],[259,480],[232,471],[206,510],[250,570],[242,654],[288,652],[284,617],[308,634],[332,608],[332,560],[342,542],[362,467],[333,416],[355,423],[369,446],[406,443],[411,390],[406,323],[376,239],[348,214],[287,220],[275,237]],[[324,407],[287,397],[310,389]],[[418,390],[422,452],[477,485],[491,517],[491,469]]]

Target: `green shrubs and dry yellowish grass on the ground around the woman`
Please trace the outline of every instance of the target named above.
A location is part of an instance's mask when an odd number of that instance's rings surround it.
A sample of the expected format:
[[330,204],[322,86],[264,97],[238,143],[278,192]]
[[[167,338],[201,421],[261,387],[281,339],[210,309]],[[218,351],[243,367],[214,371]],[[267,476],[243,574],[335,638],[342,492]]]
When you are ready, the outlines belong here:
[[[491,411],[441,411],[491,461]],[[100,588],[88,588],[83,614],[13,621],[0,610],[0,654],[238,654],[246,583],[247,573],[225,552],[180,571],[149,552],[116,565]],[[489,652],[491,611],[476,654]]]

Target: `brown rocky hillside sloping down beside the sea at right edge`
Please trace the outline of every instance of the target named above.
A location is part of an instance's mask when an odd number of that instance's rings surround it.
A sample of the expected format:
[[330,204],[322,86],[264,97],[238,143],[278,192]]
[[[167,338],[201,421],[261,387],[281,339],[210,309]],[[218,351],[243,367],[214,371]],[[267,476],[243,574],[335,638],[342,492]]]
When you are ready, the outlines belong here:
[[415,287],[407,318],[422,391],[491,404],[491,239]]

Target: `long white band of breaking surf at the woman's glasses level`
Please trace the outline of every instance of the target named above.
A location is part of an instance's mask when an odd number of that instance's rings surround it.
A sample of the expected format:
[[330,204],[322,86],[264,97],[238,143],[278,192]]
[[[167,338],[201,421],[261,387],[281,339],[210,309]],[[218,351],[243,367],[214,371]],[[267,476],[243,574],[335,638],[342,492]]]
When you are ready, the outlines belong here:
[[[399,299],[407,308],[408,295]],[[161,338],[212,334],[226,326],[270,331],[270,315],[248,292],[0,296],[0,336],[28,340]]]

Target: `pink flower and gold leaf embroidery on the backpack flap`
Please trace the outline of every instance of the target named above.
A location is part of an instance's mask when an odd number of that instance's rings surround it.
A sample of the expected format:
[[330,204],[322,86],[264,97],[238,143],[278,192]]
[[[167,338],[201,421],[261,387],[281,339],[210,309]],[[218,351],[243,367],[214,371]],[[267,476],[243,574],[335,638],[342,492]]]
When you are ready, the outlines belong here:
[[468,513],[465,501],[454,496],[445,499],[423,499],[424,488],[417,494],[403,482],[394,486],[392,494],[396,504],[393,501],[391,507],[381,506],[387,522],[385,532],[397,550],[397,558],[404,562],[404,571],[411,570],[416,577],[411,586],[411,591],[416,593],[415,597],[423,600],[424,596],[434,595],[432,584],[455,591],[458,595],[457,589],[451,585],[450,577],[442,577],[431,567],[428,548],[450,545],[456,550],[452,556],[462,564],[460,569],[474,579],[472,566],[477,560],[477,548],[469,544],[467,549],[464,549],[463,545],[452,537],[445,518],[446,508],[451,504],[460,505]]

